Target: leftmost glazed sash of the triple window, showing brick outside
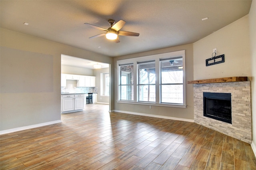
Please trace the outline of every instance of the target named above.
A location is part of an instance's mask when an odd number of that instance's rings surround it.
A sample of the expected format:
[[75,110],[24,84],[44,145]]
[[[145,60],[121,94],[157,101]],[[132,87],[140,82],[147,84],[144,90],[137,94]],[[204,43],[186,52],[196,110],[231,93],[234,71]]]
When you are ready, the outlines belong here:
[[120,100],[134,100],[133,72],[133,64],[120,66]]

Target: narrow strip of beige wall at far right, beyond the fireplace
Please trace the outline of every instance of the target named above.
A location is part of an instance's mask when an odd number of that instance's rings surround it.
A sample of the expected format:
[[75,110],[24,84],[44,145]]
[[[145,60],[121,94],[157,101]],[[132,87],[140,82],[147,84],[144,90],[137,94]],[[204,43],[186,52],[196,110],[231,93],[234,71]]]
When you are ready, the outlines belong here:
[[252,147],[256,154],[256,1],[252,1],[249,24],[250,24],[250,47],[251,47],[251,67],[252,67]]

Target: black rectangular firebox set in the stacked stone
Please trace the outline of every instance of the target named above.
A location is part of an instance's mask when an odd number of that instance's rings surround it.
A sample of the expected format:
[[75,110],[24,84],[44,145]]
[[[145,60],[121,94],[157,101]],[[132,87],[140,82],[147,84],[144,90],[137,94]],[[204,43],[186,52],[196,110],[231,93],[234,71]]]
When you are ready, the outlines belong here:
[[203,92],[204,116],[232,124],[231,93]]

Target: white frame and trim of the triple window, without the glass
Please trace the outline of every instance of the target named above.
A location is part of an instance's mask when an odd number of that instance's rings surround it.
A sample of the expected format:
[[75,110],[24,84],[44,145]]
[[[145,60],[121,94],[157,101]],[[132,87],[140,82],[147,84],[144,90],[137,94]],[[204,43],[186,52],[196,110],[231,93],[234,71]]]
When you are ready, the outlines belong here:
[[[160,59],[164,58],[172,58],[172,57],[178,57],[182,56],[182,62],[183,62],[183,104],[169,104],[169,103],[161,103],[160,102]],[[155,60],[156,62],[156,102],[139,102],[138,101],[138,68],[137,68],[137,62],[143,62],[143,61],[149,61],[149,60]],[[130,64],[132,63],[134,65],[134,100],[132,101],[123,101],[120,100],[120,67],[119,65],[123,64]],[[138,58],[130,58],[125,60],[118,60],[116,62],[117,66],[117,93],[116,98],[118,99],[118,103],[127,103],[127,104],[141,104],[141,105],[151,105],[151,106],[166,106],[166,107],[177,107],[177,108],[186,108],[186,66],[185,66],[185,50],[175,51],[175,52],[168,52],[163,54],[155,54],[151,56],[143,56]]]

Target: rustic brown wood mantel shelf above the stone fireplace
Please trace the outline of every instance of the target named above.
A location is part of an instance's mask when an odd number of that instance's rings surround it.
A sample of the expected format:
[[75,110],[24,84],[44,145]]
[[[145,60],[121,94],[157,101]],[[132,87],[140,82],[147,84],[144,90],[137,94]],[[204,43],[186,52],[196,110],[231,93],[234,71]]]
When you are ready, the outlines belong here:
[[247,77],[225,77],[225,78],[212,78],[205,80],[188,81],[188,84],[204,84],[204,83],[226,83],[226,82],[246,82]]

